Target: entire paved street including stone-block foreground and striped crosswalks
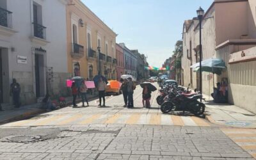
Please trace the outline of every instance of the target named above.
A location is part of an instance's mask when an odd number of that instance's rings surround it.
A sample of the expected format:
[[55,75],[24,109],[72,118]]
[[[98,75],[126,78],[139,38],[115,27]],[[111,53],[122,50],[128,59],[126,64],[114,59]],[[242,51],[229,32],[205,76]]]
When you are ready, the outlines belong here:
[[[193,115],[163,115],[152,93],[142,108],[122,95],[87,108],[67,107],[0,125],[0,159],[253,159],[256,129],[219,127]],[[81,106],[81,104],[79,104]],[[228,138],[229,137],[229,138]],[[231,139],[230,139],[231,138]]]

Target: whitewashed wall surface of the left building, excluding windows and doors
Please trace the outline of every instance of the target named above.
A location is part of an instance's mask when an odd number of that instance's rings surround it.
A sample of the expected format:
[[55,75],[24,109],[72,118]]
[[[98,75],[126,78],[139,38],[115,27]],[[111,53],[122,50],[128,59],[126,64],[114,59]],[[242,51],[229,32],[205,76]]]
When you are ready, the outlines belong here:
[[[52,67],[54,74],[67,74],[67,48],[60,47],[67,44],[66,40],[66,20],[65,1],[40,1],[35,0],[42,6],[42,25],[46,27],[46,40],[49,42],[42,45],[38,42],[31,42],[33,36],[33,1],[30,0],[8,0],[7,10],[12,13],[13,30],[17,31],[12,36],[0,36],[0,45],[4,47],[4,60],[8,61],[4,69],[4,102],[10,103],[9,91],[12,78],[16,78],[21,86],[20,99],[22,104],[36,102],[35,97],[35,48],[44,49],[44,66],[42,72],[46,72],[46,67]],[[51,14],[51,8],[56,13]],[[64,26],[57,28],[56,26]],[[11,50],[11,47],[14,49]],[[27,63],[17,63],[17,56],[25,56]],[[44,73],[46,79],[46,75]],[[46,93],[45,79],[42,79],[44,91]],[[65,86],[65,83],[61,85]],[[57,92],[57,91],[56,91]]]

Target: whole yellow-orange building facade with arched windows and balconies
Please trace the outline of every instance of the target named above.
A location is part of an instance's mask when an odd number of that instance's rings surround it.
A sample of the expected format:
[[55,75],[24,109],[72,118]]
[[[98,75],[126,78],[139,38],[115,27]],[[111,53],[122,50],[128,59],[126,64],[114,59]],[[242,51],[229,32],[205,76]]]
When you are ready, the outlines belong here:
[[66,13],[68,72],[89,80],[99,72],[116,79],[116,33],[80,0],[70,1]]

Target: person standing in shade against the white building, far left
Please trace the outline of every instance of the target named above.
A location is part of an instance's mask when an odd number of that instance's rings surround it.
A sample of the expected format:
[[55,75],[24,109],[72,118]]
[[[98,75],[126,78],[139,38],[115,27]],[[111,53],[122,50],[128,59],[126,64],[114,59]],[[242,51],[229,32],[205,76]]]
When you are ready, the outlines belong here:
[[10,96],[12,96],[13,104],[15,108],[20,107],[20,84],[17,83],[16,79],[12,79]]

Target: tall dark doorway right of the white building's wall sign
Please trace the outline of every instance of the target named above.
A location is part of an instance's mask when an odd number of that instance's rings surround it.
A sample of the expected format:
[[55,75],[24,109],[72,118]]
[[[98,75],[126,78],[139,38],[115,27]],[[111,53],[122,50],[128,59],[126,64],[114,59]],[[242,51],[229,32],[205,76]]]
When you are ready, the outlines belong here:
[[44,97],[44,55],[35,54],[36,97]]

